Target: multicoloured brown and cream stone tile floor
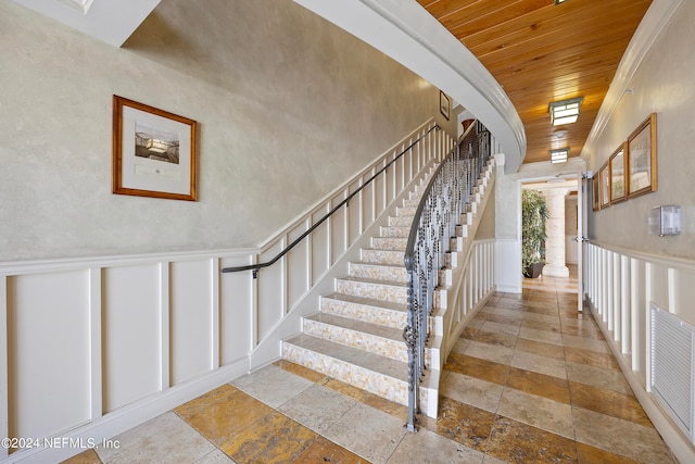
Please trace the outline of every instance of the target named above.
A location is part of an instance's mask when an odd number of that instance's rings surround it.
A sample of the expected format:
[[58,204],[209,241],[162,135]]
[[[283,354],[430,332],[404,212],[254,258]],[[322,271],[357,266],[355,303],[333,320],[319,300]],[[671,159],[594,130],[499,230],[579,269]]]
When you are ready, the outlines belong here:
[[576,286],[573,267],[493,294],[447,360],[439,418],[417,434],[404,406],[280,361],[67,462],[674,462],[577,314]]

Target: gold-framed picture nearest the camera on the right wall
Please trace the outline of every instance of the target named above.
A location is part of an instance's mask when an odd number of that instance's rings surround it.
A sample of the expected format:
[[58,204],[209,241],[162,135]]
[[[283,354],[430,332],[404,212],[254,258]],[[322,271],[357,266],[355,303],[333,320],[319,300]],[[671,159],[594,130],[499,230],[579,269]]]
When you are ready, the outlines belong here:
[[656,113],[628,137],[628,197],[656,191]]

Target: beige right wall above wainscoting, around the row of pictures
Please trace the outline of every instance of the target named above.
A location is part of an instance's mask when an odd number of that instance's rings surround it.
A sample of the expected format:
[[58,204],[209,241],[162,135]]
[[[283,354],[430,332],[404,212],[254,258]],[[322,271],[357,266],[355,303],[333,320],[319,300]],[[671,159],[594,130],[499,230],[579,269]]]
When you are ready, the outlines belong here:
[[[590,212],[590,237],[628,249],[695,259],[695,2],[683,2],[671,23],[641,63],[630,87],[601,138],[601,149],[590,160],[597,171],[632,130],[652,112],[657,113],[658,191]],[[683,234],[648,235],[653,206],[680,204]]]

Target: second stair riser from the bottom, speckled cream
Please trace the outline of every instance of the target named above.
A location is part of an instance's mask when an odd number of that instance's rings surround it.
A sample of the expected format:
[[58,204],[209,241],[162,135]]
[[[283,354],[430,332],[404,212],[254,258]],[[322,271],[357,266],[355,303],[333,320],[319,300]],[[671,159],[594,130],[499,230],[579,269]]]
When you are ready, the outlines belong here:
[[408,361],[407,346],[401,340],[390,340],[312,319],[304,319],[303,328],[304,334],[313,335],[324,340],[346,344],[348,347],[357,348],[404,363]]

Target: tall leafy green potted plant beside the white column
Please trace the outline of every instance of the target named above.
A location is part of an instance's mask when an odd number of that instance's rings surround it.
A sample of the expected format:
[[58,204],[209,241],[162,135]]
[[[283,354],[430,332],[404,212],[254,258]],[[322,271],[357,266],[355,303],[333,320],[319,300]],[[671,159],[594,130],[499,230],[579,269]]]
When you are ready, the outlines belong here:
[[521,272],[536,278],[545,265],[545,223],[549,216],[547,203],[536,190],[521,191]]

